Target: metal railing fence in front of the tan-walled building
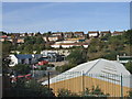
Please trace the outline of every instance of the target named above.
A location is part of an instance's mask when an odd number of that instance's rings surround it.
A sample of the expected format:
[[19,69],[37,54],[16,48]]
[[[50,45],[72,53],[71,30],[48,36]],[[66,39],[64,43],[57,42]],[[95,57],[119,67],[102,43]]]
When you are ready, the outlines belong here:
[[[63,73],[50,80],[43,82],[53,88],[53,91],[58,96],[61,89],[70,90],[73,94],[81,95],[89,91],[85,96],[92,96],[94,88],[96,95],[102,94],[108,97],[128,97],[132,90],[131,75],[113,75],[113,74],[84,74],[82,72]],[[100,92],[101,91],[101,92]]]

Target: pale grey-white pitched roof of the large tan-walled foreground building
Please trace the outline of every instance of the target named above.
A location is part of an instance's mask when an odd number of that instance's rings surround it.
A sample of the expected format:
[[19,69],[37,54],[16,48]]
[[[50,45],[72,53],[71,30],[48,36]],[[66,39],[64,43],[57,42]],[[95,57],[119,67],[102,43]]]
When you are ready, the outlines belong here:
[[[110,81],[120,85],[121,75],[123,76],[123,86],[130,87],[130,76],[131,74],[125,69],[125,67],[114,61],[108,61],[99,58],[96,61],[87,62],[80,64],[61,75],[51,78],[50,84],[70,79],[74,77],[82,76],[92,76],[101,80]],[[91,75],[92,74],[92,75]],[[42,85],[47,85],[47,80],[42,82]]]

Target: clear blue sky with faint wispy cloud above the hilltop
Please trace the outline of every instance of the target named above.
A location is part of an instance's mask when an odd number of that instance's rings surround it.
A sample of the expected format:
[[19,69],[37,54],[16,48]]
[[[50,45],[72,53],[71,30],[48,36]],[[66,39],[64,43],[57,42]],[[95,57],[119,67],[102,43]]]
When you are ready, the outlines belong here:
[[130,2],[3,2],[6,32],[118,31],[130,29]]

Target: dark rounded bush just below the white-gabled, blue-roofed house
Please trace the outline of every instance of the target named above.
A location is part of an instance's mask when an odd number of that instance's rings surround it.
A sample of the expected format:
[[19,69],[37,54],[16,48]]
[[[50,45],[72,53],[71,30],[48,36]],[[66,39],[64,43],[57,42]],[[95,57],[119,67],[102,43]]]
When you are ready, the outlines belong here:
[[30,73],[31,67],[29,65],[18,64],[12,67],[12,69],[15,70],[18,74],[25,75]]

